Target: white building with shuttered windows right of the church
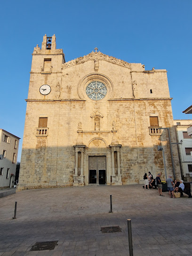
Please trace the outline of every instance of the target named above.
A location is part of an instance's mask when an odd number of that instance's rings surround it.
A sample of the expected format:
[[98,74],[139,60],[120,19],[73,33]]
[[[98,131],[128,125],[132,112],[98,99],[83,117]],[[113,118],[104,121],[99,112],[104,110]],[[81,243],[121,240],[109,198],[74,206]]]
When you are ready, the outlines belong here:
[[192,136],[188,135],[187,128],[192,125],[192,120],[174,120],[174,125],[177,133],[178,151],[180,156],[180,168],[182,177],[186,174],[192,174]]

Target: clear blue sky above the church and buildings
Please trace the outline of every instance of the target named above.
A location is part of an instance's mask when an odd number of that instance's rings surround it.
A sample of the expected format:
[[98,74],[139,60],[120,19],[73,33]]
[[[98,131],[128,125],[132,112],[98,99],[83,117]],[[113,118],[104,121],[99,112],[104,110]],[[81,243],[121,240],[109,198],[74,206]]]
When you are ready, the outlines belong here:
[[[192,0],[9,0],[0,8],[0,128],[23,138],[31,54],[44,34],[56,34],[66,61],[97,47],[146,70],[167,69],[173,117],[188,119]],[[21,148],[22,140],[17,160]]]

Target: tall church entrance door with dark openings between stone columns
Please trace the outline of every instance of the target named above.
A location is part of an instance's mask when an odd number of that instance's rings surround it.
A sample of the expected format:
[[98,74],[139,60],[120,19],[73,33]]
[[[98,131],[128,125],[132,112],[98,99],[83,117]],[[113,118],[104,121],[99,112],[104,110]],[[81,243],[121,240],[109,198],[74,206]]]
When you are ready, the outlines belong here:
[[106,184],[106,156],[88,157],[89,184]]

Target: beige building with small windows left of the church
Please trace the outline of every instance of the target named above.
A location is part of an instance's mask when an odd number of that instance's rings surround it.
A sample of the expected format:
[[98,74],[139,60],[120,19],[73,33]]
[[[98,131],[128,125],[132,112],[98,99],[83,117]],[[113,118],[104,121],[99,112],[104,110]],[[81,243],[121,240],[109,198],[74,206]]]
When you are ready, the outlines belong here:
[[14,185],[19,139],[0,129],[0,189]]

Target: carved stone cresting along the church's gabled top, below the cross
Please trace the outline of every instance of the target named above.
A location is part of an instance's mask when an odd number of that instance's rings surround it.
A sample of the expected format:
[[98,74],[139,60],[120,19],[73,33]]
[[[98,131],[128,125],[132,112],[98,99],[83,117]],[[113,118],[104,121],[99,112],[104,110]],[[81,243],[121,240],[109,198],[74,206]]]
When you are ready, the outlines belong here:
[[126,61],[117,59],[117,58],[112,57],[112,56],[108,56],[106,54],[101,53],[100,51],[99,52],[93,52],[92,51],[88,55],[76,58],[74,60],[71,60],[71,61],[68,61],[68,62],[62,64],[62,69],[84,63],[88,60],[93,60],[93,61],[95,61],[95,60],[97,60],[97,61],[105,60],[105,61],[117,64],[117,65],[120,65],[120,66],[123,66],[123,67],[126,67],[126,68],[131,68],[130,64]]

